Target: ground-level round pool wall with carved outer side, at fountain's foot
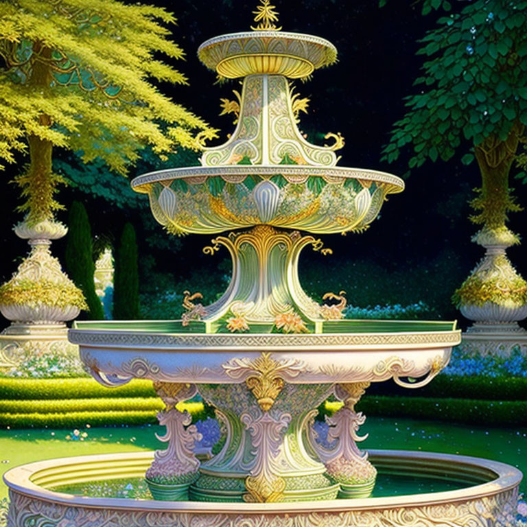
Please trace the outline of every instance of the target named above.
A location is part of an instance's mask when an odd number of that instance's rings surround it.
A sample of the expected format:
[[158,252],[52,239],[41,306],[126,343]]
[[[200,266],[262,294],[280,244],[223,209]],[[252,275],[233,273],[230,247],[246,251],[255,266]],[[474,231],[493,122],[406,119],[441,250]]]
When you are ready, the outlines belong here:
[[[355,500],[298,503],[203,503],[89,497],[51,489],[143,478],[152,452],[80,456],[16,467],[4,475],[10,488],[8,524],[35,526],[352,527],[509,525],[515,517],[522,473],[504,463],[472,458],[372,450],[370,459],[394,480],[448,482],[454,490]],[[443,487],[442,487],[443,484]],[[457,487],[457,488],[456,488]],[[406,493],[405,493],[406,492]]]

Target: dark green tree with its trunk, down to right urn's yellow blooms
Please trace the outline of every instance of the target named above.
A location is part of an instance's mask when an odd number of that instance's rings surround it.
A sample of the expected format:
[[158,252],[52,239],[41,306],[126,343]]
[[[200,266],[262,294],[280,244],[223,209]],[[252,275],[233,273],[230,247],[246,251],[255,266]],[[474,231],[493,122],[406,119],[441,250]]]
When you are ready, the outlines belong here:
[[[428,159],[447,161],[458,152],[465,165],[476,160],[481,187],[471,202],[476,211],[471,221],[481,230],[474,241],[518,243],[506,221],[509,212],[519,210],[509,173],[519,143],[527,139],[527,1],[467,3],[439,19],[422,43],[418,53],[428,60],[414,83],[418,93],[407,97],[408,110],[395,123],[383,159],[391,163],[408,149],[410,169]],[[473,274],[458,290],[456,303],[527,303],[527,283],[506,257],[499,266],[506,285]]]

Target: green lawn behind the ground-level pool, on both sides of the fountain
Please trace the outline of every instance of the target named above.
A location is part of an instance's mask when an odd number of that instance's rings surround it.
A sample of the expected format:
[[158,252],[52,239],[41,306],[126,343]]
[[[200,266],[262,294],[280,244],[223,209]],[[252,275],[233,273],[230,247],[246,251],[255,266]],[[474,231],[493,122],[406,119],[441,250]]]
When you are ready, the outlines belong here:
[[[484,419],[484,416],[482,416]],[[69,430],[0,430],[0,472],[16,465],[67,456],[137,452],[158,448],[161,427],[130,426],[82,429],[84,441],[69,441]],[[485,428],[471,425],[371,417],[360,434],[370,436],[361,447],[464,454],[506,462],[527,473],[527,428]],[[527,491],[527,482],[522,490]],[[3,482],[0,499],[7,495]]]

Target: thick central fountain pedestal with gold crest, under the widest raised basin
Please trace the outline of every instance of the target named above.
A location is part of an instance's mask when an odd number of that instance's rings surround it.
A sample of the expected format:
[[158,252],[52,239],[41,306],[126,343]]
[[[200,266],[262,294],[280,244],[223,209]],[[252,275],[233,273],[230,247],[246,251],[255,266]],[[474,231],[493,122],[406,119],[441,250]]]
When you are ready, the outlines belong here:
[[293,384],[298,361],[262,353],[232,360],[228,374],[238,384],[200,384],[216,408],[227,436],[222,451],[200,467],[191,500],[290,502],[331,500],[339,486],[305,445],[307,423],[331,393],[331,384]]

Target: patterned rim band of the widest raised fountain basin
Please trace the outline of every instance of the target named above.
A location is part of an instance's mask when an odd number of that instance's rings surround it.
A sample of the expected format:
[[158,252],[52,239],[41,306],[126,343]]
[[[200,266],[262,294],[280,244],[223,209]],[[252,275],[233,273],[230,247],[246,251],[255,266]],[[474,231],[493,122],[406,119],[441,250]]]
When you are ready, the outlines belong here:
[[[403,340],[401,341],[401,337]],[[405,338],[406,337],[406,338]],[[107,348],[126,347],[126,349],[207,349],[223,353],[229,349],[241,351],[294,351],[301,346],[303,351],[318,352],[354,351],[372,349],[423,349],[439,346],[453,347],[461,342],[461,330],[452,331],[407,331],[397,333],[149,333],[108,329],[70,329],[68,339],[72,344],[90,346],[101,344]],[[309,349],[312,348],[312,349]]]

